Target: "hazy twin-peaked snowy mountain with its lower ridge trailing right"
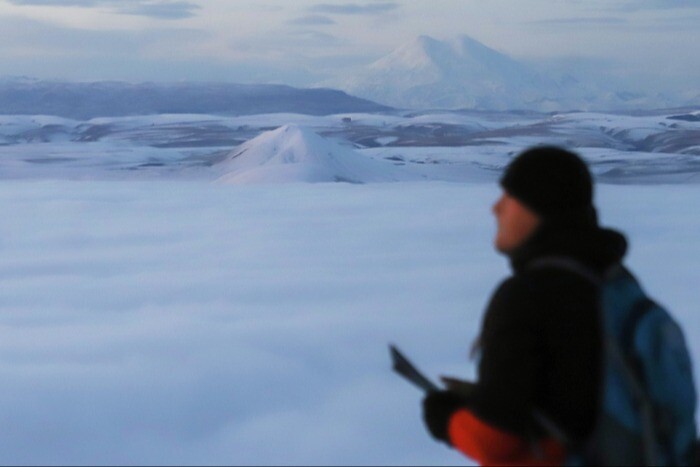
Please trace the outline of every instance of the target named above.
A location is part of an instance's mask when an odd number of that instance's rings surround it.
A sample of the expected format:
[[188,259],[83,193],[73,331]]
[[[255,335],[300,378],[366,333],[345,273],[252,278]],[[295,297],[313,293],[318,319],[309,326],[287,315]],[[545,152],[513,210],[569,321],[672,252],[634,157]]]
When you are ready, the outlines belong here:
[[[468,36],[421,36],[349,78],[326,84],[398,108],[477,110],[629,110],[697,105],[608,88],[571,73],[544,73]],[[605,83],[605,84],[601,84]]]

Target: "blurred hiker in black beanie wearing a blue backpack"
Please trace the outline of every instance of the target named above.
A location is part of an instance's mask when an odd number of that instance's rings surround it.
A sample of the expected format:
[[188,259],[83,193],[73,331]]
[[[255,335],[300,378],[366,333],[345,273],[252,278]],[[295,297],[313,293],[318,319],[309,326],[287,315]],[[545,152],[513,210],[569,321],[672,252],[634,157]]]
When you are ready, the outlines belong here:
[[[675,412],[684,414],[671,413],[664,420],[652,414],[647,420],[633,413],[638,402],[625,392],[628,381],[620,376],[630,365],[619,369],[611,362],[614,339],[602,304],[610,295],[606,281],[614,276],[624,293],[639,288],[622,266],[625,237],[598,224],[586,164],[570,151],[535,147],[507,167],[501,187],[493,206],[494,244],[510,260],[513,275],[497,288],[485,312],[473,348],[477,380],[443,377],[447,389],[424,399],[429,432],[482,465],[693,463],[696,394],[675,323],[664,321],[676,331],[675,340],[654,344],[670,349],[663,354],[670,355],[670,363],[654,361],[649,370],[656,372],[650,378],[673,380],[670,389],[637,386],[645,393],[681,391],[669,397],[676,399]],[[620,308],[627,297],[617,300]],[[635,336],[639,323],[656,313],[650,306],[625,311],[634,317],[620,318],[625,324],[618,327],[626,329],[621,332]],[[656,327],[649,332],[656,333],[659,326],[651,326]],[[642,367],[634,368],[640,380],[648,370]],[[636,380],[634,375],[630,379]],[[620,405],[621,397],[630,401]],[[652,408],[661,412],[657,405]],[[623,419],[629,415],[630,429],[613,420],[619,412],[625,412]],[[647,428],[656,434],[646,433]],[[662,435],[671,439],[660,440]],[[658,445],[648,446],[654,443]]]

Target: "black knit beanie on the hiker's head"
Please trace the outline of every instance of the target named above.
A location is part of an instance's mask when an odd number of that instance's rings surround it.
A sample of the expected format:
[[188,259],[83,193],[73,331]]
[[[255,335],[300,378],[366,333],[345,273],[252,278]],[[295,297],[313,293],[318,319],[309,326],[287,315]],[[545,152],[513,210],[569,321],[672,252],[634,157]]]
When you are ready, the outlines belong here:
[[550,224],[598,223],[591,173],[573,152],[551,146],[528,149],[508,166],[501,186]]

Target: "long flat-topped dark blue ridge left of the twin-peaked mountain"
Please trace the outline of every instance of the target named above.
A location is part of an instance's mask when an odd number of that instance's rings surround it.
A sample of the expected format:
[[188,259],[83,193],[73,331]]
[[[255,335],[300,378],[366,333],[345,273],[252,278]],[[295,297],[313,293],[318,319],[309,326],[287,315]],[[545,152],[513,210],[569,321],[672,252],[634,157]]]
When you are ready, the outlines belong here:
[[218,83],[70,83],[0,80],[0,114],[85,120],[166,113],[331,115],[388,107],[332,89]]

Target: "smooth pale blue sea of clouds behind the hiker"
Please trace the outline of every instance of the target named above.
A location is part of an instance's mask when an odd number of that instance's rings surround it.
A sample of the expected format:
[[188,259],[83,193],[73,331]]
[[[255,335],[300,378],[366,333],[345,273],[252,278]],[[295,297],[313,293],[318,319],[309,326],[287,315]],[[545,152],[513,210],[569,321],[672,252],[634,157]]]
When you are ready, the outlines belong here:
[[[3,464],[463,465],[435,378],[508,274],[493,183],[0,183]],[[700,370],[697,185],[600,186]]]

